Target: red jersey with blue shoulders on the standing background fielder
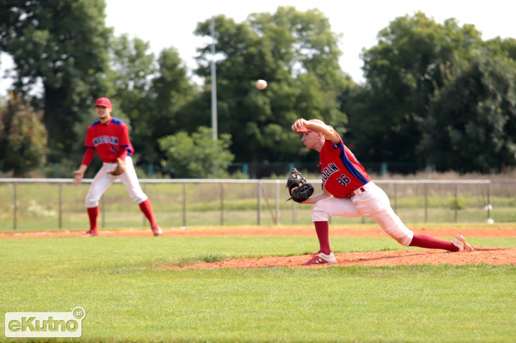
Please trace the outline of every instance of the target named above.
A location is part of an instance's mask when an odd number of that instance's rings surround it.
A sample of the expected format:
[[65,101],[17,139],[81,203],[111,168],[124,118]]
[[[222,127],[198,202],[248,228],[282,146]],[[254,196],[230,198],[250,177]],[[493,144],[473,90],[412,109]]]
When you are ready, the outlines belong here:
[[128,156],[134,153],[127,125],[117,118],[111,118],[105,124],[98,120],[88,126],[84,146],[94,149],[103,162],[112,162],[120,157],[120,148],[127,148]]

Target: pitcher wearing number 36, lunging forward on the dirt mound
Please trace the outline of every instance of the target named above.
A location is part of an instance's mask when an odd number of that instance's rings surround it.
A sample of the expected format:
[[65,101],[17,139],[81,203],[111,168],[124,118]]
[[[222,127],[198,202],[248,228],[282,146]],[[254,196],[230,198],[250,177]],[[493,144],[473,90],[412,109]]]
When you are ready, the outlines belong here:
[[473,251],[460,234],[450,242],[428,235],[416,235],[409,230],[394,213],[387,194],[371,181],[364,167],[344,145],[333,127],[318,119],[301,118],[292,125],[292,130],[303,135],[302,141],[308,149],[319,152],[318,166],[322,177],[322,192],[300,201],[302,204],[314,205],[312,221],[320,246],[320,250],[303,265],[337,262],[330,249],[329,216],[372,218],[383,231],[404,246]]

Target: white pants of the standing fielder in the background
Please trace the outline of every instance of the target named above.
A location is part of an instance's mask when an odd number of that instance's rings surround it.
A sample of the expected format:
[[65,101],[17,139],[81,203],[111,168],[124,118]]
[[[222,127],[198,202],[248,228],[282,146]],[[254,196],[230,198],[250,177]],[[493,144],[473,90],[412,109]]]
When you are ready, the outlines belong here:
[[99,200],[102,197],[102,194],[104,194],[104,192],[115,182],[117,178],[119,178],[127,188],[134,202],[141,204],[147,200],[147,195],[143,192],[140,187],[140,183],[138,182],[138,177],[136,176],[136,171],[134,170],[133,166],[133,159],[130,156],[125,157],[126,169],[122,175],[113,176],[107,173],[108,171],[114,170],[115,168],[117,168],[116,163],[104,162],[102,164],[102,168],[93,178],[90,190],[86,195],[86,207],[91,208],[99,206]]

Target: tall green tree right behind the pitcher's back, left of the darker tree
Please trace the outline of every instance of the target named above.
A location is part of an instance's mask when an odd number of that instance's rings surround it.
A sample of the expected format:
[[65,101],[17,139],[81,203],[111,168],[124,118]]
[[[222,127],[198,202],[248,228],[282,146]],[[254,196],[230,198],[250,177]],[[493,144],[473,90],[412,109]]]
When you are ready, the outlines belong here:
[[362,53],[366,85],[346,107],[356,153],[378,162],[424,161],[415,150],[422,138],[418,124],[444,83],[440,66],[471,59],[480,37],[473,25],[438,24],[422,12],[381,30],[378,44]]

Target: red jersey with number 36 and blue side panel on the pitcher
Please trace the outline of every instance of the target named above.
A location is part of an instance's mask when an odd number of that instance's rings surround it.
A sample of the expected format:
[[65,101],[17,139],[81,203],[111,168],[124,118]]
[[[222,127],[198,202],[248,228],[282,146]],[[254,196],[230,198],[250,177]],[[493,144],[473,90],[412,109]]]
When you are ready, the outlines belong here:
[[371,179],[353,153],[341,139],[337,145],[325,141],[319,154],[322,187],[335,198],[345,198],[352,191],[362,187]]

